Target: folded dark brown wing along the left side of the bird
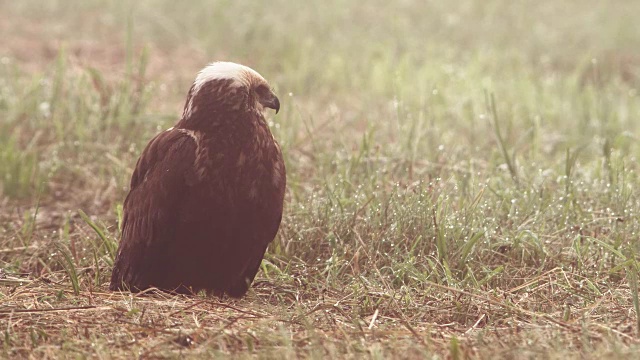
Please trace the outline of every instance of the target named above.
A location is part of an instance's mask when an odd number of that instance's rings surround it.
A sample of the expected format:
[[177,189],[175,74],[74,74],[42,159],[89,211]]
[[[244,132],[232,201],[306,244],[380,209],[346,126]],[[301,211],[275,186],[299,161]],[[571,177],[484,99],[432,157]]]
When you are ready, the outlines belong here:
[[161,286],[167,277],[166,245],[175,238],[178,204],[193,176],[196,150],[191,136],[171,129],[153,138],[142,152],[124,202],[112,290]]

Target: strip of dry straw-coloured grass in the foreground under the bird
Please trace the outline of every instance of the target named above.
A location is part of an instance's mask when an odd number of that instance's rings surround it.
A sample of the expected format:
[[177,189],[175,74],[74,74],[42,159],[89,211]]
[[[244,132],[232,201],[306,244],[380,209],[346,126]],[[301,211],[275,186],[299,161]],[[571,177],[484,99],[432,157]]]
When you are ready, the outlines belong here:
[[52,274],[14,287],[0,317],[10,329],[5,351],[33,358],[57,357],[61,350],[69,356],[144,358],[630,355],[637,341],[626,308],[629,290],[608,290],[587,306],[568,304],[579,294],[571,284],[580,280],[556,268],[494,294],[437,284],[424,293],[356,293],[262,280],[246,299],[220,301],[101,289],[78,296],[64,277]]

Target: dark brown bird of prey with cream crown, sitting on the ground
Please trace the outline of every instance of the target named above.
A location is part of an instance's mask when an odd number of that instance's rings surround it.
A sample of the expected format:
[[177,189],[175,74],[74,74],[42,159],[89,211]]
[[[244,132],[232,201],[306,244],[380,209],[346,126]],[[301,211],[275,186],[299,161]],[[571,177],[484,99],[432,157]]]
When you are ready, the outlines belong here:
[[280,101],[253,69],[200,71],[182,118],[140,155],[124,201],[111,290],[243,296],[280,220],[282,153],[263,110]]

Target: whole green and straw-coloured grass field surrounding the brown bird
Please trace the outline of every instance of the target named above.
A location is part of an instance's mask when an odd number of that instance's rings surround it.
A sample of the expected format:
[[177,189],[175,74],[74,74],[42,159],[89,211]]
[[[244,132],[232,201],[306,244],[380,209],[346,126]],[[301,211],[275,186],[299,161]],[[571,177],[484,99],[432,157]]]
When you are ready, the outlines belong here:
[[[636,358],[639,11],[0,1],[0,356]],[[109,292],[214,59],[280,94],[279,235],[242,300]]]

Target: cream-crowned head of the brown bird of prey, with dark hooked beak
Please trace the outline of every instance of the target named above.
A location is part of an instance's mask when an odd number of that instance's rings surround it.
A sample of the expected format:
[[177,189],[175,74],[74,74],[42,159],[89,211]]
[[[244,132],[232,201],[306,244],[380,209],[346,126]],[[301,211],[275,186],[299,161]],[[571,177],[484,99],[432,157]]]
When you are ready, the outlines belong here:
[[271,108],[278,113],[280,100],[267,81],[248,66],[214,62],[200,70],[185,104],[183,120],[213,112],[230,113]]

